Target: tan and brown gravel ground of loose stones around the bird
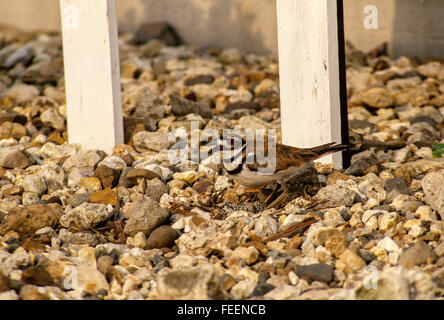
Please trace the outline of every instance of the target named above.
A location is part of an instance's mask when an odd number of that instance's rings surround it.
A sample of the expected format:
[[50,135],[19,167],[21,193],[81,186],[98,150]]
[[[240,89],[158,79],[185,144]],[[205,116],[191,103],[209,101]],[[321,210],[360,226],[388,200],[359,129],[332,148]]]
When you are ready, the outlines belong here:
[[108,155],[66,142],[60,36],[0,32],[0,299],[444,297],[443,63],[347,44],[352,165],[266,208],[208,159],[171,164],[168,133],[280,140],[277,61],[119,41]]

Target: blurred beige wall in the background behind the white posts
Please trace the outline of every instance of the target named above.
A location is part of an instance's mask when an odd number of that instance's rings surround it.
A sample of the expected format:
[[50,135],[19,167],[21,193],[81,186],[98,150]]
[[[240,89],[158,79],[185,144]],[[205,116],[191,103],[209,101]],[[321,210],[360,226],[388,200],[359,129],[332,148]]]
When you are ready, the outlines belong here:
[[[331,0],[334,1],[334,0]],[[363,27],[364,7],[378,8],[378,29]],[[187,43],[276,53],[275,0],[117,0],[119,27],[168,21]],[[0,0],[0,24],[59,30],[58,0]],[[444,59],[443,0],[344,0],[345,36],[370,50],[384,41],[394,55]]]

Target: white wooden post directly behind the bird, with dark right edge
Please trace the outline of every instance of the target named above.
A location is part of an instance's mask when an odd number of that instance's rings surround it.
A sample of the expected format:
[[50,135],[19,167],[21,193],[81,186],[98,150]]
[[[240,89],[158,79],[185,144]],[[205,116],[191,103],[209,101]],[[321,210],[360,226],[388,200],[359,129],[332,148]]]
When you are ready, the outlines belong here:
[[[277,0],[282,139],[342,142],[336,0]],[[342,168],[342,154],[322,162]]]

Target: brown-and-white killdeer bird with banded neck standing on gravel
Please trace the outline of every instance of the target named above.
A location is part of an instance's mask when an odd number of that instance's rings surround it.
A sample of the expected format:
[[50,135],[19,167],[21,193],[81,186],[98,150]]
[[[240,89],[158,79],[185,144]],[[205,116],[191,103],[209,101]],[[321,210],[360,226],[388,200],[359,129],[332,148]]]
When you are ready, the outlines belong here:
[[[351,147],[330,142],[313,148],[297,148],[275,143],[274,140],[265,137],[262,148],[258,141],[247,141],[245,137],[236,133],[230,133],[228,139],[225,137],[224,144],[223,166],[235,181],[255,191],[260,191],[263,187],[276,182],[282,186],[284,197],[288,195],[286,182],[303,165]],[[258,146],[263,149],[263,152],[259,152],[263,159],[257,157]],[[264,159],[265,155],[267,159]]]

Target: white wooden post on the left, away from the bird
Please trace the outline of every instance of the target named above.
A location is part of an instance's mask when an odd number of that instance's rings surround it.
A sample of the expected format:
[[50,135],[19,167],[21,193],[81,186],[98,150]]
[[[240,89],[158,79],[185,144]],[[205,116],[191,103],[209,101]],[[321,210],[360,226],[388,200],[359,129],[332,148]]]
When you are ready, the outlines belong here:
[[68,138],[108,154],[123,143],[115,0],[60,0]]

